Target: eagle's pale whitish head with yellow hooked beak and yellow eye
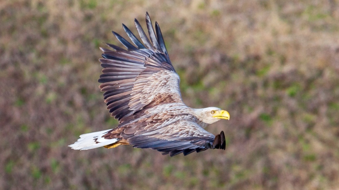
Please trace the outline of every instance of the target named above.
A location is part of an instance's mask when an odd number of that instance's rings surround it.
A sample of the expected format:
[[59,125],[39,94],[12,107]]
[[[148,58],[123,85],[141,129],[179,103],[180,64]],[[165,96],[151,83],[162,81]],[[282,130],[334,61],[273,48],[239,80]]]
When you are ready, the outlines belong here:
[[208,107],[202,109],[193,109],[196,117],[207,124],[212,124],[220,119],[227,119],[230,120],[230,114],[225,111],[221,110],[220,108],[216,107]]

